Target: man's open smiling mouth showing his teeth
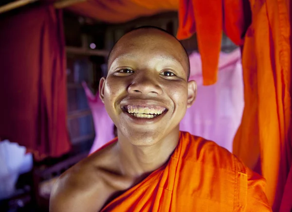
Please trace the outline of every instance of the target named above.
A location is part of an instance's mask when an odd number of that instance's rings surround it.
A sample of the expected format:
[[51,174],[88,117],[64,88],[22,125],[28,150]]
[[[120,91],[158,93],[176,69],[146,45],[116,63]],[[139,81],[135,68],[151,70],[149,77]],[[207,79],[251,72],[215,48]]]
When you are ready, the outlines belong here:
[[161,106],[124,106],[124,108],[131,116],[144,119],[156,118],[166,111],[166,108]]

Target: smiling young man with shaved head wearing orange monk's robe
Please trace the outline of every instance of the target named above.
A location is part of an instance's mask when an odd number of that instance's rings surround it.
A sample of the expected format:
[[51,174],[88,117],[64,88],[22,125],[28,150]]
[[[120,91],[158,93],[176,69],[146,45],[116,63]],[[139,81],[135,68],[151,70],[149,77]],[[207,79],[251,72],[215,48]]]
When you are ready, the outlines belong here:
[[197,92],[189,72],[183,46],[163,30],[138,28],[115,44],[100,98],[118,138],[58,179],[51,212],[271,211],[262,177],[180,132]]

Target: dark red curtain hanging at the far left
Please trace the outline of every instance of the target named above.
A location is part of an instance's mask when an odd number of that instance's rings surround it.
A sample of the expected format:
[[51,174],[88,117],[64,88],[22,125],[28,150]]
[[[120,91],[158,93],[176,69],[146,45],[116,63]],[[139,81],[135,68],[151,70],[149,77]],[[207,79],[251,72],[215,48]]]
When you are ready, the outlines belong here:
[[61,11],[31,8],[0,20],[0,138],[36,159],[70,150]]

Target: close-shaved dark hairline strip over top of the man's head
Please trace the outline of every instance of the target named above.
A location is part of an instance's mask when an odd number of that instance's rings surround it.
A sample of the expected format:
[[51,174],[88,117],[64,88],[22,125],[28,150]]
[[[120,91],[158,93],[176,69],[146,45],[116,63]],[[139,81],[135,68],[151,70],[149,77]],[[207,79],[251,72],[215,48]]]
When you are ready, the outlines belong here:
[[[114,54],[114,52],[120,48],[120,44],[121,43],[125,43],[128,42],[129,39],[131,40],[137,40],[140,39],[141,42],[143,42],[145,40],[146,36],[152,35],[152,37],[156,36],[165,36],[165,40],[170,40],[170,42],[173,42],[174,44],[176,44],[178,46],[178,50],[181,53],[181,56],[183,58],[183,61],[185,62],[186,65],[186,71],[187,71],[187,79],[190,76],[190,62],[189,62],[189,57],[188,54],[185,50],[185,48],[183,47],[182,43],[173,35],[169,34],[167,31],[165,31],[164,29],[161,29],[159,27],[154,27],[154,26],[142,26],[142,27],[138,27],[135,28],[133,30],[131,30],[130,32],[126,33],[125,35],[123,35],[116,43],[115,45],[112,47],[112,49],[110,50],[109,56],[108,56],[108,64],[110,64],[110,61],[112,60],[112,55]],[[169,42],[169,43],[170,43]],[[171,45],[171,44],[170,44]]]

